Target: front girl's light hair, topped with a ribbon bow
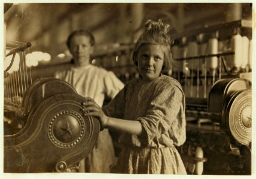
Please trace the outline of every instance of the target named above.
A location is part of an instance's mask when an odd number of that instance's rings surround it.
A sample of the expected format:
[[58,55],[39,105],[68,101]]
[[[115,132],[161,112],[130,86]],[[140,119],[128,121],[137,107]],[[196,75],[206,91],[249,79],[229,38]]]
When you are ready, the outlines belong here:
[[136,42],[135,49],[133,50],[133,63],[138,67],[138,50],[145,44],[161,45],[164,52],[164,62],[162,71],[169,71],[172,69],[172,51],[170,46],[173,44],[173,39],[170,38],[168,33],[169,24],[163,24],[161,20],[158,22],[148,20],[145,23],[145,31],[142,33],[138,41]]

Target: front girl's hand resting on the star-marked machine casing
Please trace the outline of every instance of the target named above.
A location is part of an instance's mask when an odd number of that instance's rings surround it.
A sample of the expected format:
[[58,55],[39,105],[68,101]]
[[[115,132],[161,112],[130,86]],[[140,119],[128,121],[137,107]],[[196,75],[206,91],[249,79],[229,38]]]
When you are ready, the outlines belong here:
[[99,119],[100,125],[104,128],[108,122],[108,116],[106,116],[101,107],[93,100],[93,98],[85,97],[83,102],[84,109],[83,111],[84,116],[95,116]]

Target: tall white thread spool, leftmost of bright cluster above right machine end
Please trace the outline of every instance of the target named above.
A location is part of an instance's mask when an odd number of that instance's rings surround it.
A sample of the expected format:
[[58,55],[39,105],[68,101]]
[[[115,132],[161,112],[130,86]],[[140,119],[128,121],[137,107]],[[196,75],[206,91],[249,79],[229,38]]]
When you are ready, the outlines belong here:
[[231,50],[234,51],[232,63],[232,72],[237,73],[242,65],[242,36],[240,35],[240,28],[234,29],[233,35],[231,37]]

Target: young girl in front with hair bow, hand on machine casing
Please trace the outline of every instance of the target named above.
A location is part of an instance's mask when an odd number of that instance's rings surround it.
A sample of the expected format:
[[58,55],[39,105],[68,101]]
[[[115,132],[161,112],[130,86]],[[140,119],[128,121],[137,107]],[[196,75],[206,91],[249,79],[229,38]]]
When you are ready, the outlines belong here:
[[162,75],[171,67],[172,40],[160,20],[149,20],[133,51],[140,77],[128,82],[101,109],[92,98],[85,115],[104,128],[121,131],[122,150],[112,172],[123,174],[186,174],[175,146],[185,142],[185,97],[175,79]]

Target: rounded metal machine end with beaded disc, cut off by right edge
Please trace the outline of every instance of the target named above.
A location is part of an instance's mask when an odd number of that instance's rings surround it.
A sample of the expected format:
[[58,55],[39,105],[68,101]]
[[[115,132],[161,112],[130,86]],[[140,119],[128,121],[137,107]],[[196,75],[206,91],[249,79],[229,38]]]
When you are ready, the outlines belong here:
[[[249,81],[241,78],[226,78],[217,81],[208,98],[208,112],[220,113],[212,121],[240,144],[251,145],[252,92]],[[218,118],[219,117],[219,118]]]

